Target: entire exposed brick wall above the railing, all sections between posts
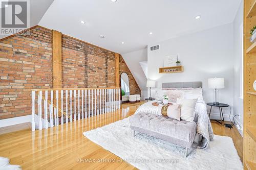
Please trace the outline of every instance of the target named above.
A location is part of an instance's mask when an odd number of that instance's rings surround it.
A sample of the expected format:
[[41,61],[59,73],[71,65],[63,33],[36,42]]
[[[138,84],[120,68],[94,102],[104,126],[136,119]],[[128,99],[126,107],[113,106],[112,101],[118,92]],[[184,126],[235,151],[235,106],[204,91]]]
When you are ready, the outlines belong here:
[[[29,36],[0,42],[0,119],[31,114],[32,88],[52,88],[52,31],[36,27]],[[120,56],[120,74],[131,94],[140,89]],[[62,88],[115,87],[115,53],[62,35]]]

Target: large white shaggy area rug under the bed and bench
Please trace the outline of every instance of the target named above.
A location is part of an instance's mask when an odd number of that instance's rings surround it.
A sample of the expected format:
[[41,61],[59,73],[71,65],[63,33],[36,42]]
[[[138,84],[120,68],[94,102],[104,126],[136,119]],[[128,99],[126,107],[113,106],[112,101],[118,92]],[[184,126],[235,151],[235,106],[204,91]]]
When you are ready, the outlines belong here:
[[243,169],[227,136],[215,135],[208,149],[193,149],[185,158],[184,148],[143,134],[133,137],[129,117],[83,135],[139,169]]

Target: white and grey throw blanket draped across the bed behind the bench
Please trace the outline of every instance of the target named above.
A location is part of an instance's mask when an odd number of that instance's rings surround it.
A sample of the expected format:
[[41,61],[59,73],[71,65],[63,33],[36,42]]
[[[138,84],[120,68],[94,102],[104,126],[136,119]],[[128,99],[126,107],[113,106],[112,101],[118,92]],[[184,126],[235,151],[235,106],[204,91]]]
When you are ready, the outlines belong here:
[[[157,114],[158,107],[153,106],[153,102],[156,101],[144,103],[136,110],[135,114],[141,112]],[[205,103],[197,103],[194,121],[197,123],[197,134],[194,143],[200,149],[207,149],[210,140],[214,138],[214,131],[210,124]]]

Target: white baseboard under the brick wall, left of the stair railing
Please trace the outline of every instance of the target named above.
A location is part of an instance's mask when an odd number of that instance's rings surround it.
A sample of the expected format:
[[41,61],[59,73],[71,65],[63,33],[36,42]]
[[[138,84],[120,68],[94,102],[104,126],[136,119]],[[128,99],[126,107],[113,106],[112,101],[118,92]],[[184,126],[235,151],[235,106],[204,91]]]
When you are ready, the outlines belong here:
[[32,115],[12,117],[0,120],[0,128],[31,122]]

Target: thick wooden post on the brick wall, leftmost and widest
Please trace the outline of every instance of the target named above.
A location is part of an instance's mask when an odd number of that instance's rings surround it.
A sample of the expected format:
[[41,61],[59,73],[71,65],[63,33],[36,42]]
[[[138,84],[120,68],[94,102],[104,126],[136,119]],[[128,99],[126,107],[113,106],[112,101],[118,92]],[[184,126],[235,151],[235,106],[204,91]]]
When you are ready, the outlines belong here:
[[52,58],[53,58],[53,88],[62,87],[62,70],[61,70],[61,33],[52,31]]

